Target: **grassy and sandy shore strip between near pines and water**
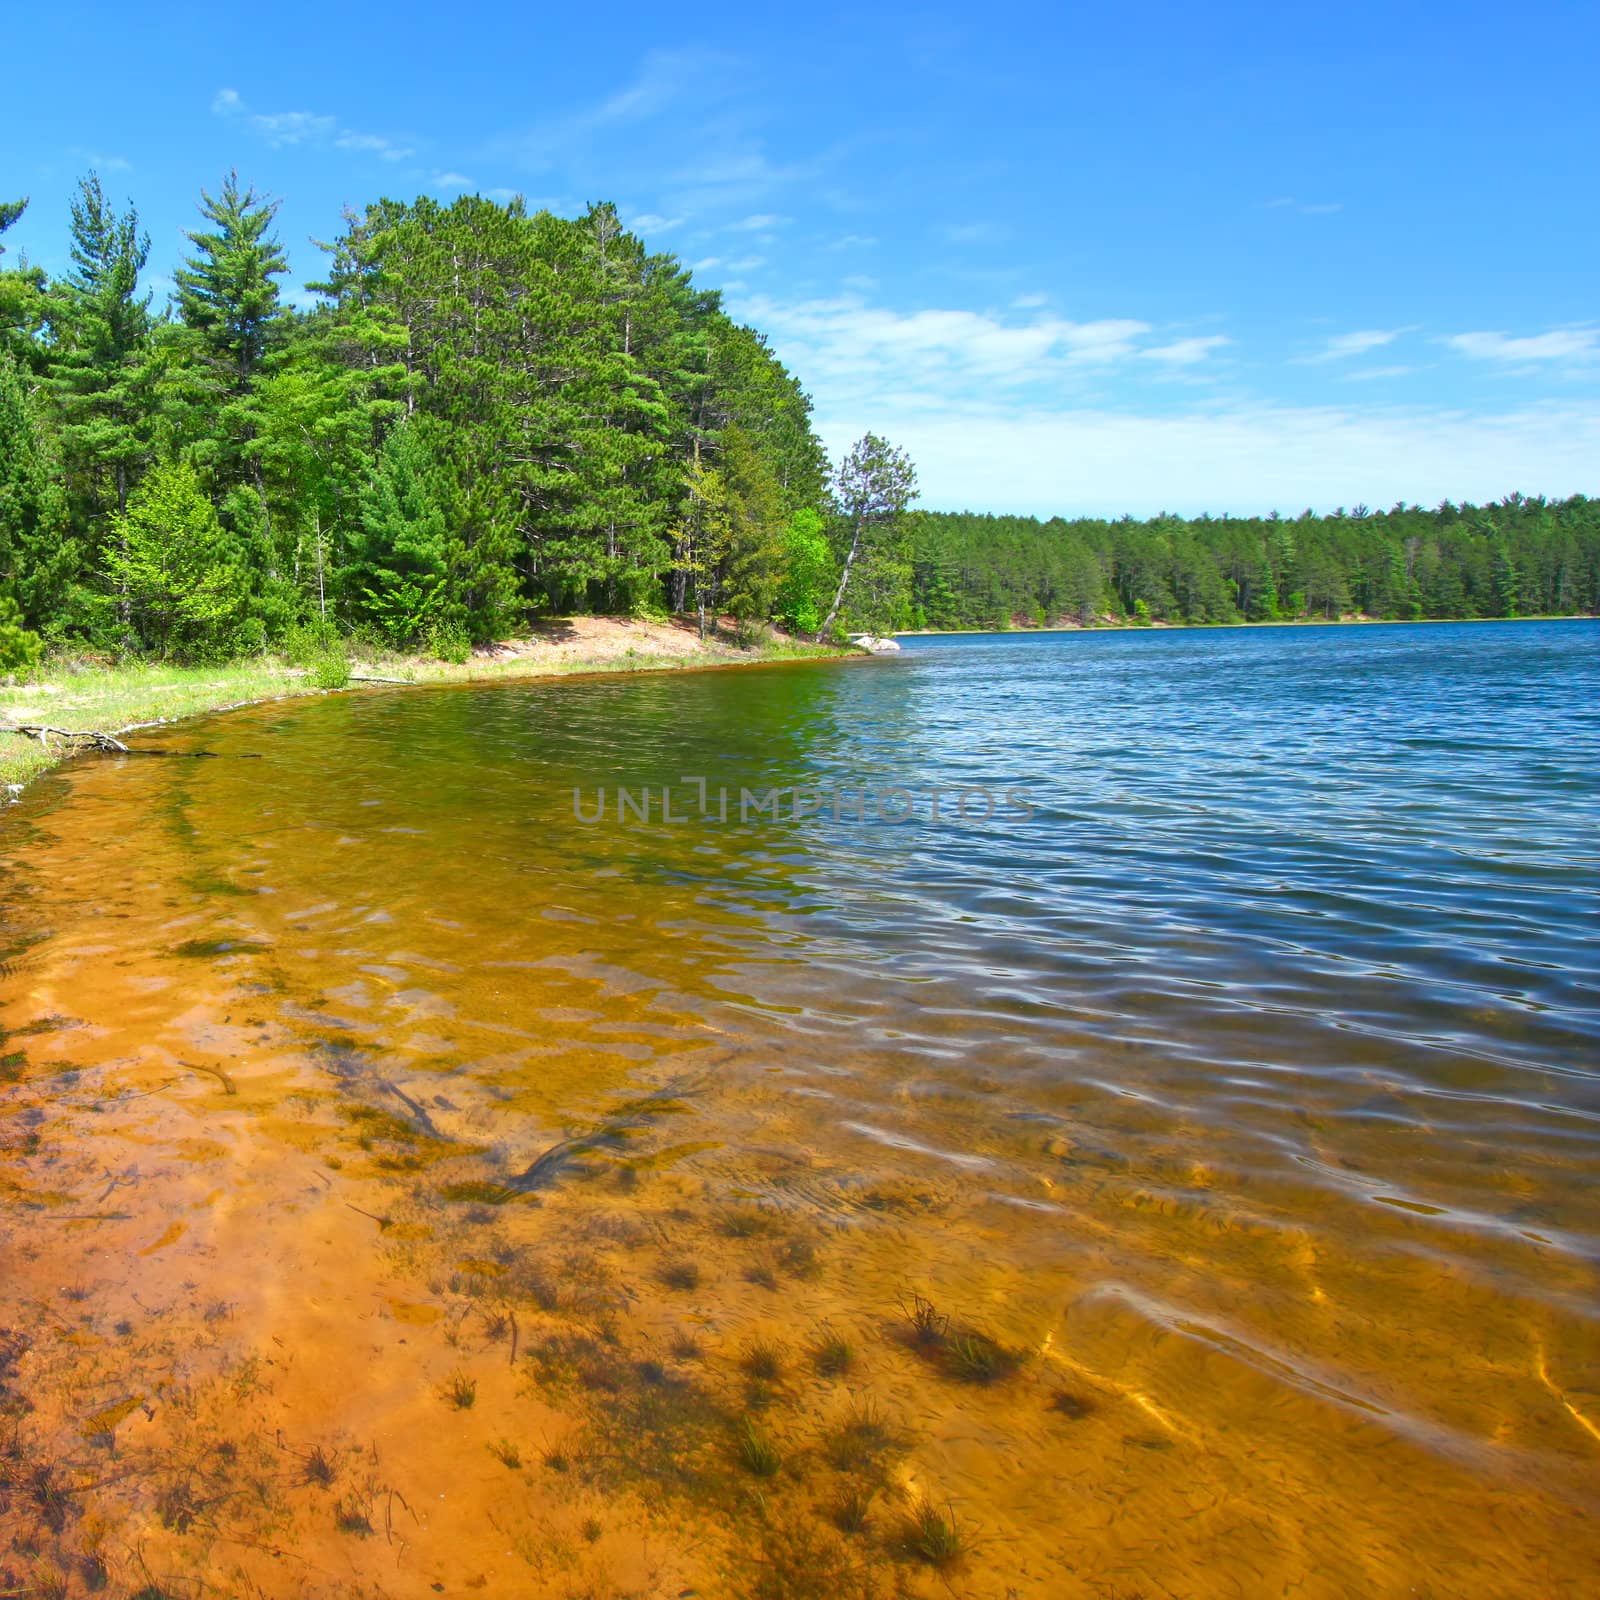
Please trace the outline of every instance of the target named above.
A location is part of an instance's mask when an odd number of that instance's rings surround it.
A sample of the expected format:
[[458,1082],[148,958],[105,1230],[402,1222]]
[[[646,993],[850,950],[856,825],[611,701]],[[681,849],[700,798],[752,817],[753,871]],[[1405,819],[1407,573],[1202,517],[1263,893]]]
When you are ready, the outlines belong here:
[[0,806],[21,798],[34,778],[80,754],[70,741],[56,734],[46,739],[24,736],[19,725],[123,738],[264,701],[368,686],[424,688],[619,672],[693,672],[859,654],[862,651],[853,645],[816,645],[774,632],[746,635],[741,642],[738,630],[717,629],[702,640],[698,629],[686,622],[568,618],[547,621],[525,638],[472,651],[466,661],[394,651],[336,658],[334,670],[328,669],[326,658],[298,664],[283,656],[210,667],[58,661],[29,682],[0,683]]

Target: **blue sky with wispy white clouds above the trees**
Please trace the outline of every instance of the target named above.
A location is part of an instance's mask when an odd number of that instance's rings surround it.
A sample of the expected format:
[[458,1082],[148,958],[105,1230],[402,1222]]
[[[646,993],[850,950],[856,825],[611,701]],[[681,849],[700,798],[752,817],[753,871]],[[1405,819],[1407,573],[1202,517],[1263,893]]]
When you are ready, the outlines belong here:
[[614,200],[923,502],[1600,493],[1592,5],[37,5],[6,235],[90,168],[157,294],[229,166],[294,283],[341,206]]

